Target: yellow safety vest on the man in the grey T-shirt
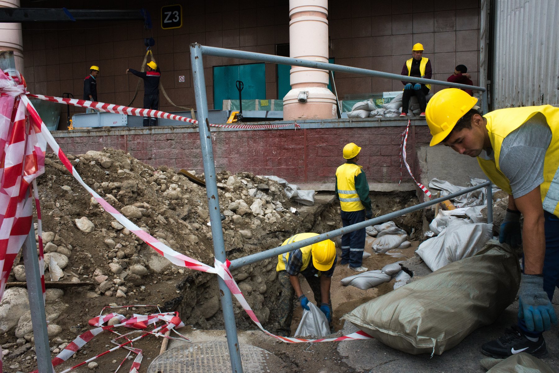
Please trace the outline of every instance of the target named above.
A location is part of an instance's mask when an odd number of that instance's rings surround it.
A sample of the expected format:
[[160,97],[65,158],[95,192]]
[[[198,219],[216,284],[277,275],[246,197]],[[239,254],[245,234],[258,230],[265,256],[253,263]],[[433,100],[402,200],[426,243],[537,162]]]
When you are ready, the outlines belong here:
[[486,128],[495,160],[477,157],[477,162],[489,180],[512,195],[510,182],[499,168],[501,145],[506,136],[538,112],[546,116],[552,135],[543,162],[543,183],[540,185],[543,209],[559,216],[559,108],[551,105],[512,107],[487,113],[484,117],[487,119]]

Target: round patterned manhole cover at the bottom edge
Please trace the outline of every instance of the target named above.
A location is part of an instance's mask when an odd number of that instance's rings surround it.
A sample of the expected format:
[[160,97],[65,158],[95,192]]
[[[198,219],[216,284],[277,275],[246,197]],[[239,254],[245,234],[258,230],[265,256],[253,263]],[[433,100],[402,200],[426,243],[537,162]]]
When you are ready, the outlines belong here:
[[[275,373],[280,358],[262,348],[239,344],[244,373]],[[155,358],[148,373],[231,372],[227,342],[184,344]]]

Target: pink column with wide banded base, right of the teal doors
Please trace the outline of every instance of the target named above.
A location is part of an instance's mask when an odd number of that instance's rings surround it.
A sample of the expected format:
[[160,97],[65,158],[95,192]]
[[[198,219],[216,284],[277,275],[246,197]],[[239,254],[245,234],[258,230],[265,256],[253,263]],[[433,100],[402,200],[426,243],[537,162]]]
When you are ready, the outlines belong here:
[[[328,0],[290,0],[289,6],[290,57],[328,63]],[[290,83],[291,91],[283,97],[283,119],[337,117],[328,71],[293,66]]]

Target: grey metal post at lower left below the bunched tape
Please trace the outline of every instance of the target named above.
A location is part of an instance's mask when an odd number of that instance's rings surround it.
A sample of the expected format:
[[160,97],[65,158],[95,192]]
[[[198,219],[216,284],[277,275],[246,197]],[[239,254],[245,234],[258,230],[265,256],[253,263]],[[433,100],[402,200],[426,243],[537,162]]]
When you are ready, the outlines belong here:
[[37,368],[40,372],[54,372],[53,363],[50,360],[49,335],[46,330],[45,303],[42,298],[41,278],[39,277],[39,257],[37,256],[37,244],[35,243],[35,230],[32,226],[23,243],[22,250],[33,337],[35,337]]

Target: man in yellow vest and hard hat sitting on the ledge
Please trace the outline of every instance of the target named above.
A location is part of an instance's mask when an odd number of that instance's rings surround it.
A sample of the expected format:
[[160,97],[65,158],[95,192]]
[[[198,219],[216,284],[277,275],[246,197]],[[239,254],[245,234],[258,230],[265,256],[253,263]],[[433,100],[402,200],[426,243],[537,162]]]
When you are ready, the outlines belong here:
[[[411,58],[404,63],[401,74],[408,77],[431,78],[433,69],[431,68],[429,59],[423,56],[423,44],[415,43],[411,48]],[[402,112],[400,116],[404,117],[408,115],[411,96],[416,96],[418,98],[421,112],[419,116],[425,116],[425,107],[427,106],[427,99],[425,96],[428,95],[431,84],[411,83],[408,81],[402,81],[402,84],[404,84],[404,92],[402,93]]]

